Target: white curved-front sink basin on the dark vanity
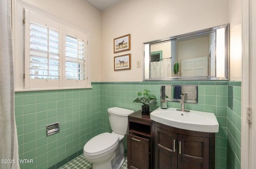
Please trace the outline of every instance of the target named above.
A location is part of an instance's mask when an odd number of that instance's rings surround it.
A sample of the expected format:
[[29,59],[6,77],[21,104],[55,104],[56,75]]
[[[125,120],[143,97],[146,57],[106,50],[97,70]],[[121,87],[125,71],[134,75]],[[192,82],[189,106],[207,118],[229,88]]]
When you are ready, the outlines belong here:
[[189,111],[181,112],[176,108],[157,108],[150,113],[150,118],[155,122],[185,130],[210,133],[219,131],[219,123],[213,113]]

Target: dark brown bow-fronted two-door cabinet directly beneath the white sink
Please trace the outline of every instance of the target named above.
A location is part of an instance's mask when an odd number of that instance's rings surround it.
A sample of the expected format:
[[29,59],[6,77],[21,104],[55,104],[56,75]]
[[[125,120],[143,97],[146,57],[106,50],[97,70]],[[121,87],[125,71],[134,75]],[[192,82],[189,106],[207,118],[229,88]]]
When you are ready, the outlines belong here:
[[155,169],[214,169],[215,134],[153,121]]

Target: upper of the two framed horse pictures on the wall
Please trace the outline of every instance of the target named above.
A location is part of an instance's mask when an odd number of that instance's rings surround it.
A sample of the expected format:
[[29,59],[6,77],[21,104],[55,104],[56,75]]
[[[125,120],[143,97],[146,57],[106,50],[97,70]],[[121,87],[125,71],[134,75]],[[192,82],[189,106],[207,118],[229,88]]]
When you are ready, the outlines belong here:
[[114,53],[129,51],[131,49],[130,34],[114,39]]

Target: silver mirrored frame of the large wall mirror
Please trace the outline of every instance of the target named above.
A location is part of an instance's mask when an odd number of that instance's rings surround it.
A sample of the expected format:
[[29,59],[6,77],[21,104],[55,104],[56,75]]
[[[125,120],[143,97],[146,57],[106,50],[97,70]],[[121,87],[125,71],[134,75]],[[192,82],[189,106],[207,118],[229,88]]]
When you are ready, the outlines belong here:
[[[174,41],[186,37],[192,37],[196,35],[203,35],[206,33],[216,32],[217,29],[225,28],[225,58],[224,58],[224,77],[216,76],[216,59],[215,59],[215,75],[214,76],[196,76],[196,77],[157,77],[150,78],[150,45],[155,43],[164,43],[167,41]],[[167,37],[164,39],[158,39],[154,41],[148,41],[143,43],[143,81],[207,81],[207,80],[229,80],[229,24],[216,26],[213,28],[202,29],[182,35]],[[216,58],[216,56],[215,56]]]

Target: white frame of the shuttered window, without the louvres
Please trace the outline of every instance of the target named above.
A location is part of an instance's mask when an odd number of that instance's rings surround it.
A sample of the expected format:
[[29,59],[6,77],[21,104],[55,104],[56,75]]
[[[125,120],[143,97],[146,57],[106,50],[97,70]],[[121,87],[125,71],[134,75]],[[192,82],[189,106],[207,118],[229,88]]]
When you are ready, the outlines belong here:
[[[14,52],[14,77],[15,77],[15,91],[33,91],[33,90],[59,90],[59,89],[76,89],[76,88],[92,88],[90,77],[90,32],[70,24],[65,20],[57,18],[43,10],[40,10],[26,2],[20,0],[12,1],[12,26],[13,26],[13,52]],[[33,15],[39,15],[47,20],[52,21],[60,27],[60,79],[30,79],[30,38],[28,38],[27,31],[30,29],[30,12]],[[23,19],[25,16],[25,26],[23,27]],[[35,17],[33,16],[33,17]],[[32,18],[33,18],[32,17]],[[35,20],[31,20],[38,23]],[[50,27],[50,26],[49,26]],[[66,30],[73,30],[73,33],[68,34]],[[28,31],[29,32],[29,31]],[[74,33],[75,32],[75,33]],[[86,52],[86,78],[85,80],[66,80],[65,73],[65,35],[75,36],[77,32],[86,35],[87,52]],[[79,34],[79,33],[77,33]],[[23,45],[20,45],[23,44]],[[26,46],[25,46],[26,45]],[[24,46],[24,47],[23,47]],[[63,65],[64,63],[64,65]],[[25,78],[24,78],[25,77]],[[31,84],[31,80],[35,80]],[[45,80],[48,84],[42,83]],[[70,82],[71,81],[71,82]],[[79,82],[80,81],[80,82]],[[83,82],[81,82],[83,81]]]

